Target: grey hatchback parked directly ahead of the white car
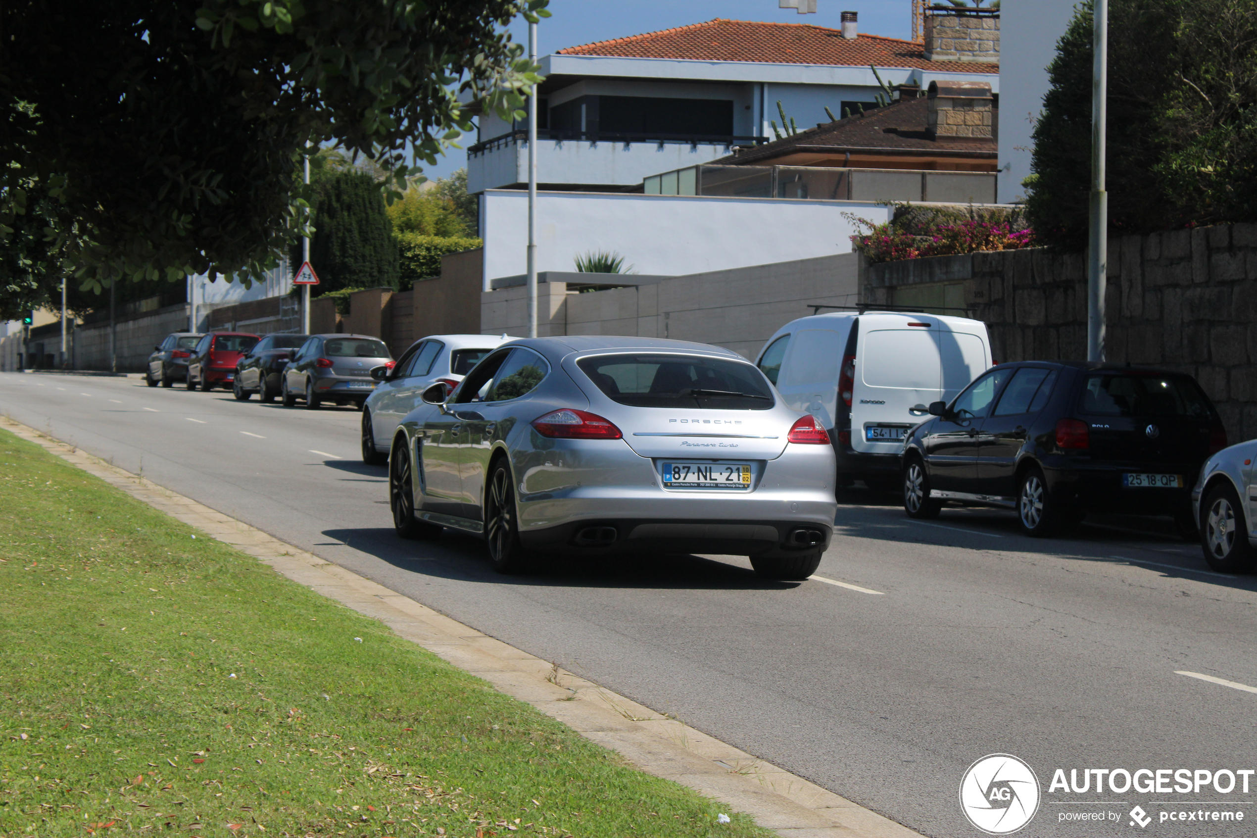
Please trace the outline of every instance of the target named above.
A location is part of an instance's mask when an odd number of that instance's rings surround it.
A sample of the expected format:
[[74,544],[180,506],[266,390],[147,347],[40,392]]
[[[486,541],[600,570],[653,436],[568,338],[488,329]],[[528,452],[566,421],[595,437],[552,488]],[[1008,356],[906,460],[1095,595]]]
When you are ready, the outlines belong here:
[[314,410],[323,402],[354,405],[362,410],[376,388],[372,367],[392,368],[393,359],[380,338],[366,334],[316,334],[288,363],[280,384],[284,407],[298,398]]

